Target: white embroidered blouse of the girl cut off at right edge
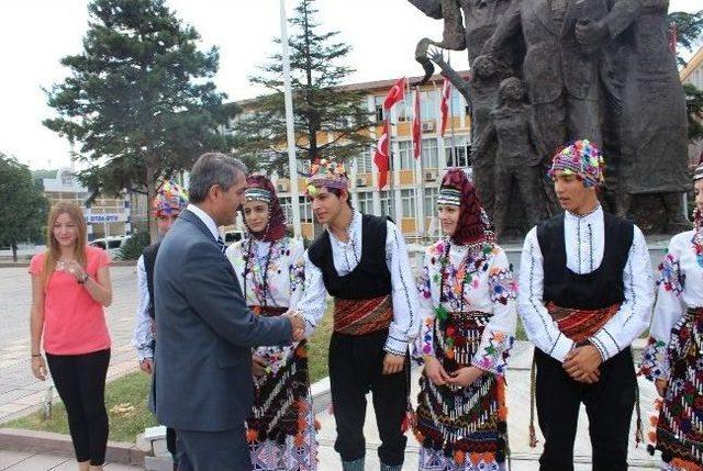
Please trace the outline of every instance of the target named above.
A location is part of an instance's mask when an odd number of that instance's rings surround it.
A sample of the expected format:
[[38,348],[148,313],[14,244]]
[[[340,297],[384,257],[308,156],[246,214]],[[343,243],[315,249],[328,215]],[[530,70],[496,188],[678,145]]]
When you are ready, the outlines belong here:
[[703,267],[698,261],[694,236],[694,231],[673,236],[659,263],[657,302],[640,366],[652,381],[669,378],[667,346],[673,327],[689,307],[703,306]]

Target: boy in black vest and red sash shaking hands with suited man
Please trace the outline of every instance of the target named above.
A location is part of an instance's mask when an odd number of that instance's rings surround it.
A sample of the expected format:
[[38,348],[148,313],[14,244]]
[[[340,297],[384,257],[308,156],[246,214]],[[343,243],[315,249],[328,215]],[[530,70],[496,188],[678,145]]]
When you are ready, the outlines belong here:
[[335,450],[344,470],[362,470],[366,393],[381,446],[381,470],[400,470],[408,410],[408,347],[420,329],[417,292],[405,242],[384,217],[361,214],[349,203],[344,166],[323,159],[312,166],[308,194],[327,229],[305,253],[305,294],[298,311],[314,330],[334,298],[330,381],[337,425]]

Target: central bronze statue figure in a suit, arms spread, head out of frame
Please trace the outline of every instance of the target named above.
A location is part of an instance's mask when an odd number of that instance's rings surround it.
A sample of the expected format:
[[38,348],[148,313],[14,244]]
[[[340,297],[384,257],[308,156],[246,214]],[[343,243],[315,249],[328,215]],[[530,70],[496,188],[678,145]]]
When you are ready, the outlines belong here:
[[602,145],[598,57],[637,14],[638,0],[524,0],[499,22],[487,51],[500,55],[522,35],[527,97],[549,154],[578,138]]

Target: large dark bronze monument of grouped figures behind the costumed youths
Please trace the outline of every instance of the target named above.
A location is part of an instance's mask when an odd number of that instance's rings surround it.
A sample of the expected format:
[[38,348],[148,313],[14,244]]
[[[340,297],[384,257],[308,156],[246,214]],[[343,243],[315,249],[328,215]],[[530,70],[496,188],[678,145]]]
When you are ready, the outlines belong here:
[[[409,1],[444,20],[442,41],[422,40],[416,58],[426,78],[437,64],[471,108],[476,186],[496,220],[505,217],[498,209],[510,198],[499,189],[506,181],[499,167],[510,159],[495,154],[491,143],[496,139],[483,136],[494,133],[499,147],[505,141],[489,116],[498,83],[514,76],[523,79],[532,106],[523,114],[534,120],[534,130],[524,127],[515,144],[532,142],[522,160],[525,169],[537,169],[532,162],[539,158],[544,165],[569,141],[588,138],[603,148],[609,164],[604,199],[611,211],[634,217],[649,232],[678,232],[688,224],[681,204],[690,180],[685,98],[669,51],[668,0]],[[472,72],[468,81],[442,54],[465,48]],[[501,106],[494,120],[507,120]],[[532,199],[553,212],[554,195],[542,190],[533,190],[538,194]]]

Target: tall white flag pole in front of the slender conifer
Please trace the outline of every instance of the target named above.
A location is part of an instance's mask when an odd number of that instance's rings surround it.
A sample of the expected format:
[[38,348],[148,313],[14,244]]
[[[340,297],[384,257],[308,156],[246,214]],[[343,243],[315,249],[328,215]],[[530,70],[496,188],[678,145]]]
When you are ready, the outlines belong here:
[[280,0],[281,45],[283,59],[283,89],[286,100],[286,136],[288,138],[288,168],[290,173],[290,208],[293,217],[293,235],[300,237],[300,201],[298,190],[298,162],[295,159],[295,130],[293,126],[293,93],[290,85],[290,55],[288,53],[288,16],[284,0]]

